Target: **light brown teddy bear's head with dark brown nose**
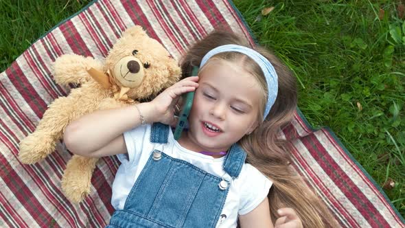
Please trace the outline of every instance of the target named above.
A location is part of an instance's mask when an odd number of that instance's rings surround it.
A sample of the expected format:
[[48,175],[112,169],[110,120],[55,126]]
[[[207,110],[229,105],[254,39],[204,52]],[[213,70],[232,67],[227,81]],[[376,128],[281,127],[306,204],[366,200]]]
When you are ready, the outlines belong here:
[[114,83],[126,87],[128,98],[141,100],[178,81],[181,69],[158,41],[140,26],[130,27],[108,53],[104,72]]

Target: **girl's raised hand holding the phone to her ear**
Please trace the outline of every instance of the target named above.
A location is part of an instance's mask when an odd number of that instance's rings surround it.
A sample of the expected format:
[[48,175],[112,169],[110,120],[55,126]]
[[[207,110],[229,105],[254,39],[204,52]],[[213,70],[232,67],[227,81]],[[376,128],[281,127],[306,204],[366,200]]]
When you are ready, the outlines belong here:
[[171,87],[165,89],[159,94],[150,104],[154,106],[154,118],[153,122],[161,122],[163,124],[174,125],[176,119],[174,119],[174,106],[183,93],[195,91],[198,87],[198,76],[187,77]]

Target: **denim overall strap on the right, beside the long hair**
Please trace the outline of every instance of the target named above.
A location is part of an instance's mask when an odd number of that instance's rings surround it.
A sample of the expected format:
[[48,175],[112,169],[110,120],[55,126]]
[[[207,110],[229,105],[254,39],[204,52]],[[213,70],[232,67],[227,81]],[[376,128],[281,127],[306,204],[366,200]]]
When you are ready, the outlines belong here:
[[246,159],[246,152],[238,144],[233,144],[224,161],[224,171],[236,178],[239,176]]

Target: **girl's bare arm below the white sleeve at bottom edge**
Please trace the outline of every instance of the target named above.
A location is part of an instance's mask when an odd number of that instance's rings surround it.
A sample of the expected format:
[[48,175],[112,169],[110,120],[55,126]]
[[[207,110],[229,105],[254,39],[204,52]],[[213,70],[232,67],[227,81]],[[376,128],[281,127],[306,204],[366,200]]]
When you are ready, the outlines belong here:
[[268,207],[268,198],[264,198],[255,209],[248,214],[239,217],[240,227],[271,227],[273,223],[270,218],[270,208]]

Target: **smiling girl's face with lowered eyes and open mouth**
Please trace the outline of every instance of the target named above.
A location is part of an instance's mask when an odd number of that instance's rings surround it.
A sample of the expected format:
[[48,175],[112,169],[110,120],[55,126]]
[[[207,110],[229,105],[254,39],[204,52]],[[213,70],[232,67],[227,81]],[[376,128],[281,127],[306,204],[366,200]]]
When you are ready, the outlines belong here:
[[259,83],[238,63],[212,59],[200,71],[187,137],[195,150],[227,150],[257,126]]

